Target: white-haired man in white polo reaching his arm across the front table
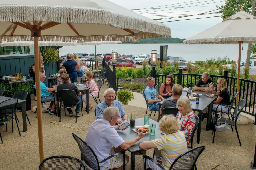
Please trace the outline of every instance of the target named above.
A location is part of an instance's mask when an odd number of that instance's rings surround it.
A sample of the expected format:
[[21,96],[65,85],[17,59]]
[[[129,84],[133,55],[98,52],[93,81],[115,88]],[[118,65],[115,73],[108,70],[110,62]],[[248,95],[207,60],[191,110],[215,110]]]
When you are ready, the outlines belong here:
[[[118,127],[123,125],[123,123],[114,126],[118,118],[118,108],[107,107],[103,111],[103,119],[96,119],[89,128],[85,142],[95,152],[99,162],[107,158],[109,155],[120,152],[122,149],[127,150],[138,142],[139,139],[148,134],[143,133],[144,131],[142,131],[136,138],[129,141],[124,141],[117,133]],[[123,130],[125,129],[126,128]],[[126,163],[129,161],[128,155],[125,155],[125,160]],[[107,161],[100,163],[99,165],[100,170],[122,167],[123,156],[114,156]]]

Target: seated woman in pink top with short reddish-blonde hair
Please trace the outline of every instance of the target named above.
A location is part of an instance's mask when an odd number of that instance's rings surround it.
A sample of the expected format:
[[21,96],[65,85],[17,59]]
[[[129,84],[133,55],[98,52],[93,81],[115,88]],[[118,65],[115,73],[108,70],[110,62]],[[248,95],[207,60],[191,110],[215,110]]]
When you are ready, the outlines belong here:
[[[99,89],[97,84],[95,83],[93,79],[93,72],[87,71],[85,73],[85,78],[87,80],[85,86],[89,87],[91,90],[91,93],[89,94],[89,97],[98,97]],[[82,100],[86,103],[86,92],[82,92]],[[90,110],[93,108],[93,106],[90,104],[89,106]],[[86,109],[86,108],[85,108]]]

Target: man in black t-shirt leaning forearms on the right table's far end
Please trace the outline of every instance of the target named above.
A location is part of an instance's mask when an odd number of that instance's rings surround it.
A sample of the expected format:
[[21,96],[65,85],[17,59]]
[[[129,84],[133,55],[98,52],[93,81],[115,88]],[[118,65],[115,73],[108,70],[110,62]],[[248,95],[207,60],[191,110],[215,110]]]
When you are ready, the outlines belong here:
[[210,74],[205,72],[202,75],[202,79],[198,80],[197,84],[195,85],[195,91],[206,91],[211,92],[211,88],[209,88],[209,84],[213,83],[212,79],[209,79]]

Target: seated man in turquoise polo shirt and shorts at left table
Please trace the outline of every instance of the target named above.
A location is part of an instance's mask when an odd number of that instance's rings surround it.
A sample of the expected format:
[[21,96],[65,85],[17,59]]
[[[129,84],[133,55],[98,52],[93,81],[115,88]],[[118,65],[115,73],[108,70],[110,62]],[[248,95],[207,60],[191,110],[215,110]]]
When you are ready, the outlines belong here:
[[[45,86],[45,83],[43,83],[46,79],[45,74],[40,73],[40,90],[41,90],[41,102],[45,103],[50,101],[50,106],[49,108],[46,110],[49,112],[49,114],[57,114],[54,109],[55,109],[55,105],[56,105],[56,96],[52,96],[50,95],[52,91],[57,90],[57,88],[48,88]],[[36,88],[36,84],[35,84],[35,88]],[[55,99],[55,105],[54,105],[54,99]]]

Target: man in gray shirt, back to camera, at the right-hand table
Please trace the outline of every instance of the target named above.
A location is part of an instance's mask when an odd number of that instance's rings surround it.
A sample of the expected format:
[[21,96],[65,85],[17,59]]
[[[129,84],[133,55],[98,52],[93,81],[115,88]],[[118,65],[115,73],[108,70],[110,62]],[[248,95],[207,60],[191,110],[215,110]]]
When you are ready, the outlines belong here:
[[175,84],[171,91],[173,93],[173,97],[169,97],[163,101],[163,104],[161,105],[160,108],[160,115],[163,115],[163,108],[176,107],[176,103],[182,94],[182,87],[179,84]]

